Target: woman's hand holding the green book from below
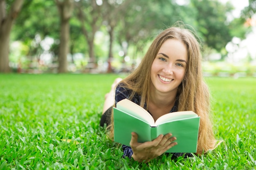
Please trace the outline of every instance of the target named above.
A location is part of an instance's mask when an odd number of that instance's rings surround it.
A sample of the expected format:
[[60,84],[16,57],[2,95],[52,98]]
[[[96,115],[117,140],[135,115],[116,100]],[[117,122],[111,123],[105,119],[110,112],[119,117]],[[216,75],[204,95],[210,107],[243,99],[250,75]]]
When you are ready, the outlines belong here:
[[166,135],[159,135],[153,141],[147,141],[144,143],[138,143],[138,135],[132,132],[132,139],[130,141],[130,146],[132,148],[133,154],[132,158],[139,162],[148,162],[162,155],[166,150],[177,145],[176,137],[171,137],[172,134],[168,133]]

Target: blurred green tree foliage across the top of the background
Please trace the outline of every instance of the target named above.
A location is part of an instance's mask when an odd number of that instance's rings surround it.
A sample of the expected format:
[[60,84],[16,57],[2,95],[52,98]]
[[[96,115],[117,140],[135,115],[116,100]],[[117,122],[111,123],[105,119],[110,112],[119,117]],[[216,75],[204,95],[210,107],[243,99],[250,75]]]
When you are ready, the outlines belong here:
[[[11,5],[16,1],[0,0],[0,4],[7,4],[1,9],[10,11]],[[74,4],[74,10],[63,13],[63,16],[69,14],[63,20],[58,9],[61,9],[64,2],[70,3],[64,7],[65,9]],[[230,4],[222,4],[218,0],[183,2],[185,3],[180,4],[178,0],[27,0],[24,1],[19,15],[15,15],[18,18],[10,38],[11,42],[19,40],[28,47],[29,60],[33,57],[40,60],[40,55],[45,53],[42,42],[52,38],[53,42],[47,49],[47,53],[53,56],[52,62],[65,63],[67,53],[72,55],[74,62],[73,55],[83,53],[83,56],[90,58],[88,62],[95,64],[98,57],[105,57],[105,60],[110,62],[117,49],[122,50],[124,56],[131,55],[136,58],[138,52],[144,51],[146,43],[159,30],[172,26],[177,21],[193,26],[204,46],[216,51],[225,50],[227,42],[233,36],[245,37],[248,30],[243,26],[241,19],[227,21],[226,13],[233,8]],[[249,2],[250,5],[243,11],[243,16],[251,17],[255,13],[255,0]],[[0,10],[0,18],[2,16],[3,10]],[[61,23],[67,20],[70,29],[61,34]],[[108,43],[98,45],[96,48],[94,39],[99,31],[104,34]],[[0,43],[3,42],[2,35]],[[65,36],[70,36],[69,40],[67,39],[69,45],[60,49],[65,40],[62,38]],[[103,50],[103,46],[108,46],[107,51]],[[133,53],[131,48],[134,49]],[[67,65],[63,66],[65,72]]]

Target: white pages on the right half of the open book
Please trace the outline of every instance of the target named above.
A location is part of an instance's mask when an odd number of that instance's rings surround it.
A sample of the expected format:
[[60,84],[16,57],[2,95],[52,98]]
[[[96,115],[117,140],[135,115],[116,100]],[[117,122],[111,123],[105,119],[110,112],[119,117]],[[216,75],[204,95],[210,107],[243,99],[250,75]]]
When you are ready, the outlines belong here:
[[166,122],[175,121],[179,119],[187,119],[191,117],[198,117],[196,113],[193,111],[181,111],[181,112],[173,112],[162,115],[155,121],[155,126],[159,124],[164,124]]

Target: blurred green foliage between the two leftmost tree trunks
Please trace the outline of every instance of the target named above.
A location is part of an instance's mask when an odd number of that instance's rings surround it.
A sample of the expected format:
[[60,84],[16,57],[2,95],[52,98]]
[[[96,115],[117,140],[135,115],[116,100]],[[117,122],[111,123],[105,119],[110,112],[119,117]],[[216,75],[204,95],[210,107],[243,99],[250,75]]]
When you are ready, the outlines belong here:
[[13,26],[11,36],[12,40],[20,40],[29,46],[27,60],[30,62],[34,58],[40,60],[40,55],[45,50],[42,41],[47,37],[54,39],[54,44],[48,50],[58,55],[58,48],[54,48],[60,43],[58,41],[60,36],[58,16],[56,4],[53,0],[25,1],[16,24]]

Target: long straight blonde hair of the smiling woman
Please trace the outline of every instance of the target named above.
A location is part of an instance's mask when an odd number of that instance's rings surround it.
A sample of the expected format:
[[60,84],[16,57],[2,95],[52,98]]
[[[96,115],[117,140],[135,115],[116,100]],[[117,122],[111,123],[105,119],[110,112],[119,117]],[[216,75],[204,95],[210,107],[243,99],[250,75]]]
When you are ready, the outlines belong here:
[[[198,149],[196,154],[202,154],[212,150],[216,146],[210,117],[210,95],[207,85],[203,81],[201,66],[201,49],[195,38],[196,35],[188,29],[171,27],[160,33],[150,45],[146,55],[139,66],[122,84],[141,96],[140,106],[148,103],[150,93],[150,71],[153,60],[162,44],[168,39],[180,40],[186,45],[188,53],[188,65],[184,79],[180,84],[177,96],[179,97],[178,111],[192,110],[200,116],[200,128],[198,135]],[[110,137],[113,135],[113,124],[110,124]]]

